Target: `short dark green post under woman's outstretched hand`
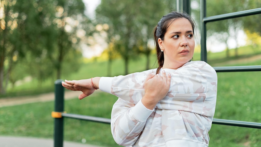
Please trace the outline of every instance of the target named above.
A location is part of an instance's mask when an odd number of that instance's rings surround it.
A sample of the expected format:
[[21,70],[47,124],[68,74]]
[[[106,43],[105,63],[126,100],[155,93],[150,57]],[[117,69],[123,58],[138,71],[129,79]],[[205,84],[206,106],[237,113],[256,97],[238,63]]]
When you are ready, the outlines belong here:
[[[64,87],[63,80],[55,81],[55,112],[64,112]],[[54,147],[63,147],[63,117],[55,118]]]

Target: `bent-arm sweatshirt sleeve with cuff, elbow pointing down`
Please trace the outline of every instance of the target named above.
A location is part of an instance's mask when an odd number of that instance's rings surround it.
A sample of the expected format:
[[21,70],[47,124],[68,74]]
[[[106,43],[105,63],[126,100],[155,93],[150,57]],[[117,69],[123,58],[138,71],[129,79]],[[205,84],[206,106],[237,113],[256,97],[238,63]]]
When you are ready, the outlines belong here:
[[111,112],[111,133],[115,142],[123,146],[133,145],[153,111],[147,109],[141,101],[134,105],[118,99]]

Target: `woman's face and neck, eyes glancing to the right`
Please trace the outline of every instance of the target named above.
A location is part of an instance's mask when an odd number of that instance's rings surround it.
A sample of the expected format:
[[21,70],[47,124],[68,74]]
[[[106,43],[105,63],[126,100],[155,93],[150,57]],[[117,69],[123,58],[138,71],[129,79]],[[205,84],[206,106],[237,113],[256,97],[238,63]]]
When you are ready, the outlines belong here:
[[158,39],[164,52],[163,68],[177,69],[189,62],[194,54],[195,41],[192,26],[186,18],[174,20],[164,35]]

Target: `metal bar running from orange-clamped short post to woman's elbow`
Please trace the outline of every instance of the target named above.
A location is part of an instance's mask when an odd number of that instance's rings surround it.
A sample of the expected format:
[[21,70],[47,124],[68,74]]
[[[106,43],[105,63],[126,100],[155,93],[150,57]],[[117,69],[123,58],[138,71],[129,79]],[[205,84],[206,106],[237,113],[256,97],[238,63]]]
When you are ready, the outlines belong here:
[[102,118],[102,117],[95,117],[95,116],[87,116],[87,115],[80,115],[80,114],[70,114],[70,113],[62,113],[63,117],[73,118],[73,119],[82,119],[82,120],[89,120],[93,122],[103,122],[103,123],[111,123],[111,119]]

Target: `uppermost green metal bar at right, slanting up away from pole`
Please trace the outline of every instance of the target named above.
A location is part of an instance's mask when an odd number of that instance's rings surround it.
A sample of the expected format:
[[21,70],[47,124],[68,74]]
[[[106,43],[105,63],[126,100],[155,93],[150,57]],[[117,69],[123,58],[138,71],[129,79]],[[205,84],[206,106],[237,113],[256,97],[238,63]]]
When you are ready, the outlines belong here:
[[204,22],[204,23],[213,22],[213,21],[218,21],[218,20],[237,18],[237,17],[249,16],[249,15],[255,15],[255,14],[261,14],[261,8],[205,17],[205,18],[203,18],[202,22]]

